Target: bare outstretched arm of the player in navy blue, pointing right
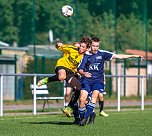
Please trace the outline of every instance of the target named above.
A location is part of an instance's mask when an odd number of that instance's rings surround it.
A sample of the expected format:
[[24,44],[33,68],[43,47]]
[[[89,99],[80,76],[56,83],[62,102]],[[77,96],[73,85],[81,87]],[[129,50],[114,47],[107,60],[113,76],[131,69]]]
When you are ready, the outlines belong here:
[[128,59],[128,58],[141,58],[144,59],[141,55],[125,55],[125,54],[114,54],[113,59]]

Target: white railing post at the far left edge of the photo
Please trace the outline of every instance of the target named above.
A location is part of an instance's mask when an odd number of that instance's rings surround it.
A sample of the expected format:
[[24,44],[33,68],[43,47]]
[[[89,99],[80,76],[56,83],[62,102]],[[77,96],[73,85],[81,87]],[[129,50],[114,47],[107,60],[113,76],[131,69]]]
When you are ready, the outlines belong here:
[[3,116],[3,75],[1,74],[0,75],[1,77],[1,90],[0,90],[0,116],[2,117]]

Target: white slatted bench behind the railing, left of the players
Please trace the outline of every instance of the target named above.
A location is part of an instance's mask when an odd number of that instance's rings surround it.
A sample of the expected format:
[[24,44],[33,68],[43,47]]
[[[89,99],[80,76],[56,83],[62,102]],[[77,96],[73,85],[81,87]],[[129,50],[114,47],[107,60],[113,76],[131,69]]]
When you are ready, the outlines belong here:
[[[30,88],[31,88],[32,94],[33,94],[34,85],[31,84]],[[44,111],[46,103],[48,103],[48,106],[49,106],[48,100],[56,100],[58,103],[58,100],[64,100],[64,97],[50,97],[47,85],[42,85],[42,86],[36,85],[36,100],[44,100],[43,109],[42,109],[42,111]]]

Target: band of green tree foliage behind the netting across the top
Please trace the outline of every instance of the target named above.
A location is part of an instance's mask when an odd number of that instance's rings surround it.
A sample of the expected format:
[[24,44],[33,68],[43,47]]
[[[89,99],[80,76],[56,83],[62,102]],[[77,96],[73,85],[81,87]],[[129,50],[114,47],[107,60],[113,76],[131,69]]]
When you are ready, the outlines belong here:
[[[0,37],[10,44],[49,44],[48,33],[54,40],[74,42],[82,35],[98,36],[102,47],[115,50],[126,48],[145,50],[145,29],[148,49],[152,51],[151,2],[147,0],[0,0]],[[60,10],[71,5],[74,15],[65,18]],[[76,9],[77,8],[77,9]],[[147,17],[147,22],[145,19]],[[76,37],[77,32],[77,37]],[[116,33],[117,32],[117,33]]]

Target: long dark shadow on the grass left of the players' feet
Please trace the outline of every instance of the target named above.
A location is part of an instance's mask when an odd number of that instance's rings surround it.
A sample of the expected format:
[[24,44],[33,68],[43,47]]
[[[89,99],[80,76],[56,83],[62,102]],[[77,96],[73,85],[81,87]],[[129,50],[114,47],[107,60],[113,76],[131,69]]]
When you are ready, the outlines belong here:
[[74,125],[73,122],[58,122],[58,121],[49,121],[49,122],[21,122],[22,124],[55,124],[55,125]]

